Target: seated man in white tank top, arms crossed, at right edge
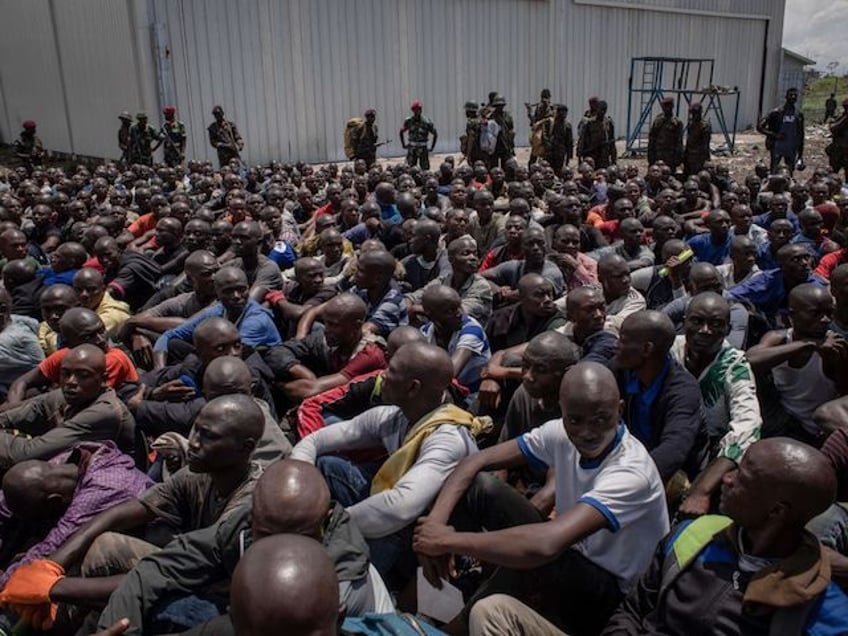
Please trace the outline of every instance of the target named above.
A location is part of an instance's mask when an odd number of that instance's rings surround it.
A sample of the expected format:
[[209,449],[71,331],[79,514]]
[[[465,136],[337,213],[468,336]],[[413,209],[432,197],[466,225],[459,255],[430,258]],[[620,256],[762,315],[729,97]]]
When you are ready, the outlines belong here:
[[830,331],[833,296],[823,287],[793,287],[789,317],[792,327],[768,332],[760,344],[748,350],[748,361],[762,380],[757,384],[768,432],[819,446],[824,435],[813,413],[825,402],[848,393],[844,373],[848,343]]

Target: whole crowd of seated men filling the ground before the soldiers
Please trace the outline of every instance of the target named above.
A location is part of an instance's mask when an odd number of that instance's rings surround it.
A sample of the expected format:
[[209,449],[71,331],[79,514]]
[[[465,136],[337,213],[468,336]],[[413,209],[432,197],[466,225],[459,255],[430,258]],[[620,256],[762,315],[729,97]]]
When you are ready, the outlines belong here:
[[848,633],[828,169],[0,168],[0,258],[2,633]]

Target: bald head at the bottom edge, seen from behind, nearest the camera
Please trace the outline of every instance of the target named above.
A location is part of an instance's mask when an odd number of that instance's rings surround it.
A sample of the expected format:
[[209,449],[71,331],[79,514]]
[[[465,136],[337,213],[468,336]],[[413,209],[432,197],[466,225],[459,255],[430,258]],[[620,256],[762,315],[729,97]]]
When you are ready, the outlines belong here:
[[335,636],[336,570],[324,547],[295,534],[260,539],[239,560],[230,586],[230,617],[239,636]]

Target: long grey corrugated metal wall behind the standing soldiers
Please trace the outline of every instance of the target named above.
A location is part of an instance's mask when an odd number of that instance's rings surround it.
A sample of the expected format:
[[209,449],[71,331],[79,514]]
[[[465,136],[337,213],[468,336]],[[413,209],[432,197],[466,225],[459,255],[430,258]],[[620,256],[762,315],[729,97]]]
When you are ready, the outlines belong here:
[[394,140],[383,154],[400,154],[397,131],[413,99],[440,131],[437,150],[454,151],[462,104],[490,90],[507,98],[526,143],[523,102],[549,87],[572,120],[590,95],[605,97],[623,135],[630,58],[654,55],[715,57],[716,82],[743,90],[745,125],[758,112],[766,32],[758,16],[771,16],[764,107],[774,101],[783,4],[0,0],[0,127],[8,139],[35,118],[49,147],[115,156],[118,111],[170,102],[188,126],[188,155],[211,159],[206,126],[221,104],[250,162],[338,160],[344,121],[369,107],[381,136]]

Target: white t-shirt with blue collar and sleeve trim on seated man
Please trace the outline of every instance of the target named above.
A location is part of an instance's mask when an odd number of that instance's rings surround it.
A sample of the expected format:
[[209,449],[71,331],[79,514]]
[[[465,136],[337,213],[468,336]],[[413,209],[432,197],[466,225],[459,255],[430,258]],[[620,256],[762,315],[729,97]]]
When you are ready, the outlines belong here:
[[648,568],[669,529],[665,490],[648,451],[620,424],[605,456],[582,460],[566,435],[562,418],[546,422],[517,441],[531,465],[554,467],[558,515],[584,503],[606,517],[607,528],[573,548],[615,575],[626,593]]

